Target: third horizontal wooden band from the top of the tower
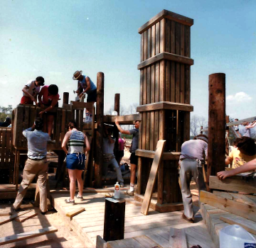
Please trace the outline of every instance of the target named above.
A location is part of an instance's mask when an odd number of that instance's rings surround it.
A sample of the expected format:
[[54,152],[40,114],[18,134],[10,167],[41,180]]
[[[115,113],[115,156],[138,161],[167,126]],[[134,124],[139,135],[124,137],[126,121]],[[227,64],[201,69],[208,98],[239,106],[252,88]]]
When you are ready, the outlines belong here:
[[156,111],[162,109],[171,109],[176,111],[193,111],[193,106],[185,103],[174,103],[171,101],[159,101],[158,103],[149,103],[137,107],[137,112]]

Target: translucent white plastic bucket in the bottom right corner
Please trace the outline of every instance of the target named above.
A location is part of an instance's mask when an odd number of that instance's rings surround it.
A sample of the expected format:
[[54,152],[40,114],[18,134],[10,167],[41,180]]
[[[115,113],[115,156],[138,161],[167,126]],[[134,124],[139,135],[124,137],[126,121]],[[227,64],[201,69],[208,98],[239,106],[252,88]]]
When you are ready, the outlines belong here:
[[228,225],[220,230],[220,248],[256,248],[256,240],[240,225]]

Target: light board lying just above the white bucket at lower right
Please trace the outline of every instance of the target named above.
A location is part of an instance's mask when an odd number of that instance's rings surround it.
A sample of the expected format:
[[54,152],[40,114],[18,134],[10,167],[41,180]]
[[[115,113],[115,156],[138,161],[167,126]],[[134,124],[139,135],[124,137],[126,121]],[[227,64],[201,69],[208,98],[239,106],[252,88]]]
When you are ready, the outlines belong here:
[[253,235],[256,235],[256,223],[252,220],[247,220],[233,214],[220,216],[220,220],[227,222],[230,225],[240,225],[245,228],[247,232],[251,232]]

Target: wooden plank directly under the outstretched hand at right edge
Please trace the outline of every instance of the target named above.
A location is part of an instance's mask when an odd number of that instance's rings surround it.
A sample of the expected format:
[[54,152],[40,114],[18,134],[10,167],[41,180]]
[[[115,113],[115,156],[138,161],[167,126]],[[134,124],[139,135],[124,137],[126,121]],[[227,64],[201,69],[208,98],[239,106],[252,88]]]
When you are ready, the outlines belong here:
[[221,189],[223,191],[240,191],[245,193],[256,193],[255,181],[241,179],[220,180],[218,176],[210,176],[210,188]]

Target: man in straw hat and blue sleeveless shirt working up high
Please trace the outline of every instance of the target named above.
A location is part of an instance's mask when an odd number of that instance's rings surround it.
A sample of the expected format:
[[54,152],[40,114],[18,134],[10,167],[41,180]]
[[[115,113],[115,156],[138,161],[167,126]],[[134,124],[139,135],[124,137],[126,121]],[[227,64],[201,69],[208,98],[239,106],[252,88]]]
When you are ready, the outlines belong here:
[[[80,94],[79,97],[82,97],[83,94],[87,94],[87,103],[95,103],[97,100],[97,87],[93,84],[90,77],[82,75],[82,71],[76,71],[73,74],[73,80],[78,80],[78,90],[76,93]],[[86,109],[85,112],[85,122],[90,123],[92,121],[92,109]]]

